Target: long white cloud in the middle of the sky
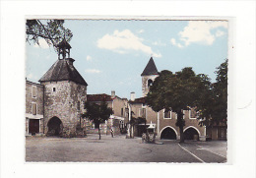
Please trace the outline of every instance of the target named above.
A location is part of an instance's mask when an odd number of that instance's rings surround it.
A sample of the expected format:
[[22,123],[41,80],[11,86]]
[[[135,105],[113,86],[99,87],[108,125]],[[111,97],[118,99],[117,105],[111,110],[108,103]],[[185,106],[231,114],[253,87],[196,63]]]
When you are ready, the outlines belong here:
[[114,30],[112,34],[105,34],[97,40],[97,47],[108,49],[120,54],[125,54],[131,50],[142,51],[148,55],[160,57],[160,53],[153,52],[150,46],[143,44],[143,38],[136,36],[131,30]]

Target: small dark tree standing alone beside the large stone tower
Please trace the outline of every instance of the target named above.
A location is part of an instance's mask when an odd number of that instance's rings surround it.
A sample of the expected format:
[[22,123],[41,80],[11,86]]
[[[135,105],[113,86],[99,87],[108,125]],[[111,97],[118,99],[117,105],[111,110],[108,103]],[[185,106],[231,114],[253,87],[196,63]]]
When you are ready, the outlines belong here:
[[83,118],[89,118],[89,120],[95,123],[95,127],[98,129],[98,136],[100,140],[100,127],[101,123],[104,123],[108,120],[109,116],[113,114],[113,111],[110,107],[107,107],[107,103],[102,101],[100,105],[92,102],[85,103],[86,113],[82,114]]

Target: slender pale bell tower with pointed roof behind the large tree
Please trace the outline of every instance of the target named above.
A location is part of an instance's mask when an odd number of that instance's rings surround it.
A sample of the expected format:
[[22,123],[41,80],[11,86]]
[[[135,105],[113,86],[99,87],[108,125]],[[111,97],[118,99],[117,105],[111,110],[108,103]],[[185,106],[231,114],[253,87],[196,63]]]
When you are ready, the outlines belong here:
[[149,92],[150,87],[152,86],[155,79],[159,77],[158,69],[152,57],[141,76],[142,76],[142,96],[144,97]]

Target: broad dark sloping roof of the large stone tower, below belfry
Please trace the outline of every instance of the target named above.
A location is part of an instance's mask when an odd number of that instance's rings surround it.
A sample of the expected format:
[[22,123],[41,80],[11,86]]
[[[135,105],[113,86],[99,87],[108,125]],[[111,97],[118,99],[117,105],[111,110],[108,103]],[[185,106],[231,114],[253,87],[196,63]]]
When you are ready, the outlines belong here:
[[57,60],[50,69],[42,76],[39,82],[73,81],[88,86],[84,78],[73,66],[75,60],[72,58]]

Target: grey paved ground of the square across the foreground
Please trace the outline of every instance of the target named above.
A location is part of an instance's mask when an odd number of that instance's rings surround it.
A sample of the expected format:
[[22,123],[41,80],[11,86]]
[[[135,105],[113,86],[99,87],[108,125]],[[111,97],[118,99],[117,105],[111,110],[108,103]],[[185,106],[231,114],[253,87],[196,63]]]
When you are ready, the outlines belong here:
[[[162,143],[162,144],[161,144]],[[28,137],[29,162],[225,162],[226,142],[159,141],[88,135],[87,138]]]

